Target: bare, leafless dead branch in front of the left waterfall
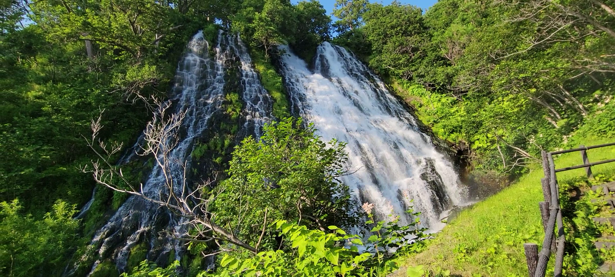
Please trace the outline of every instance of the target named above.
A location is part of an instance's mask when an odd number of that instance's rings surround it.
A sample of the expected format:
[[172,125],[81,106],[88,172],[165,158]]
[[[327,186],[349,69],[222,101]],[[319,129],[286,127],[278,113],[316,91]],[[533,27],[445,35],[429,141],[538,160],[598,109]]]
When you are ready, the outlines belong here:
[[[213,180],[207,180],[196,185],[192,190],[188,186],[186,179],[186,164],[181,164],[180,176],[172,174],[172,165],[177,165],[178,161],[171,158],[172,151],[178,143],[177,132],[185,114],[169,114],[170,102],[162,103],[154,113],[154,119],[148,122],[145,130],[145,144],[141,146],[143,153],[140,155],[153,155],[156,161],[154,170],[161,171],[165,193],[151,195],[141,183],[138,187],[134,186],[129,180],[125,179],[121,169],[112,163],[112,156],[118,153],[122,145],[117,143],[105,143],[98,139],[98,133],[103,128],[101,125],[102,111],[97,120],[92,120],[92,137],[85,139],[87,145],[98,156],[97,161],[92,161],[92,169],[88,166],[81,167],[82,172],[91,173],[97,183],[111,190],[128,193],[138,196],[162,207],[166,207],[180,217],[188,220],[192,230],[196,235],[185,234],[189,241],[224,241],[235,246],[247,249],[256,253],[256,248],[237,238],[232,232],[221,227],[215,222],[215,214],[210,212],[209,205],[216,199],[215,196],[204,195],[204,191],[209,187]],[[180,180],[175,180],[178,177]],[[266,222],[265,222],[266,223]],[[205,238],[202,239],[202,238]],[[224,248],[222,248],[224,249]]]

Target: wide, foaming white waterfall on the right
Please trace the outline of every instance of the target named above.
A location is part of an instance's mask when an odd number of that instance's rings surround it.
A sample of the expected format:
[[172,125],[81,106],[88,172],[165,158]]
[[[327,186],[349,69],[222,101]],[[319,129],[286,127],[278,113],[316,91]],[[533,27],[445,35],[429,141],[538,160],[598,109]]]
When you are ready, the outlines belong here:
[[358,171],[342,181],[357,201],[375,204],[379,217],[413,207],[424,227],[442,228],[440,216],[464,201],[464,190],[453,165],[378,76],[328,42],[318,47],[313,72],[288,47],[280,50],[293,113],[313,122],[323,140],[347,142],[349,166]]

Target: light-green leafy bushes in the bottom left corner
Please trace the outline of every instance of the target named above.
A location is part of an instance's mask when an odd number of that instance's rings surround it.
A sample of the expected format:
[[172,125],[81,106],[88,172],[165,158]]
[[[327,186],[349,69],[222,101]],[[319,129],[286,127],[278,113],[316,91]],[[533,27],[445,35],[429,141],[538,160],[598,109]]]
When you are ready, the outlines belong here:
[[0,273],[32,276],[34,272],[60,275],[66,255],[74,246],[79,223],[75,207],[56,201],[42,220],[23,215],[17,199],[0,203]]

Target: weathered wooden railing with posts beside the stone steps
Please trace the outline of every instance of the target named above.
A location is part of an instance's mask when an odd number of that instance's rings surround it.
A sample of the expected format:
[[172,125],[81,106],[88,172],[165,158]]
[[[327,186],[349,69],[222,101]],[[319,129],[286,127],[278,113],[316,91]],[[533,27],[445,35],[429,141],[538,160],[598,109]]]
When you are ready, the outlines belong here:
[[[525,258],[528,263],[528,271],[530,277],[544,277],[547,271],[547,263],[551,253],[555,253],[555,277],[561,277],[561,265],[564,258],[564,227],[561,219],[560,209],[560,193],[557,185],[557,172],[569,171],[572,169],[585,168],[588,178],[592,178],[592,166],[598,164],[606,164],[615,162],[615,159],[608,159],[605,161],[598,161],[590,163],[587,158],[587,150],[593,148],[609,147],[615,145],[614,143],[606,143],[601,145],[594,145],[591,147],[584,147],[580,145],[579,148],[554,151],[547,153],[542,151],[542,170],[544,171],[544,178],[541,179],[542,195],[544,201],[538,203],[542,218],[542,228],[544,228],[544,240],[542,241],[542,249],[538,252],[538,245],[535,243],[523,244],[525,250]],[[581,152],[581,158],[583,164],[579,166],[564,167],[555,169],[555,163],[553,161],[554,155],[560,155],[570,152]],[[557,228],[556,228],[557,225]],[[554,239],[555,237],[555,239]]]

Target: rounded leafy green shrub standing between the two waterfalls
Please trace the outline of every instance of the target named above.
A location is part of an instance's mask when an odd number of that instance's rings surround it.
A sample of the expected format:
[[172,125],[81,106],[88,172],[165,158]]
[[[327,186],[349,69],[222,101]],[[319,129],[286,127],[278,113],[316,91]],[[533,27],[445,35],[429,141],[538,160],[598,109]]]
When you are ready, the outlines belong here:
[[[352,205],[348,188],[338,180],[346,174],[344,143],[327,145],[311,124],[301,124],[293,118],[269,124],[258,142],[248,137],[232,153],[229,179],[216,187],[215,209],[243,241],[259,240],[265,218],[299,220],[309,227],[354,223],[347,212]],[[242,224],[237,224],[239,214]],[[263,238],[263,245],[275,243],[274,234]]]

